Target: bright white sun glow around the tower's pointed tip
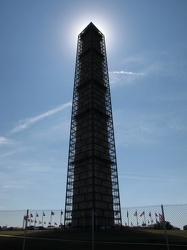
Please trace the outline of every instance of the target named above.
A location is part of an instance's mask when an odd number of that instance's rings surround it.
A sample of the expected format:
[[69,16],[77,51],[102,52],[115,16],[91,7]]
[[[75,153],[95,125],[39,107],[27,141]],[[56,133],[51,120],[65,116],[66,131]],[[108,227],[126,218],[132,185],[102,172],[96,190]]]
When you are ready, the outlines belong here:
[[85,10],[81,12],[72,12],[71,20],[67,19],[59,29],[61,48],[65,49],[65,55],[73,58],[76,55],[78,35],[92,22],[105,37],[107,54],[111,54],[115,47],[115,21],[112,21],[111,15],[99,12],[99,10]]

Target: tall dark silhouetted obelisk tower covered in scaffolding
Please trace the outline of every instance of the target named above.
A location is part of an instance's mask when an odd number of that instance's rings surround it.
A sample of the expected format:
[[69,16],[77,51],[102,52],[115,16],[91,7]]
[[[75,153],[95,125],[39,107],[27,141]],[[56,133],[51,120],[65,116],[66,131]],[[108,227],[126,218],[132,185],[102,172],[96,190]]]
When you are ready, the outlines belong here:
[[121,224],[104,35],[90,23],[78,36],[65,221],[72,227]]

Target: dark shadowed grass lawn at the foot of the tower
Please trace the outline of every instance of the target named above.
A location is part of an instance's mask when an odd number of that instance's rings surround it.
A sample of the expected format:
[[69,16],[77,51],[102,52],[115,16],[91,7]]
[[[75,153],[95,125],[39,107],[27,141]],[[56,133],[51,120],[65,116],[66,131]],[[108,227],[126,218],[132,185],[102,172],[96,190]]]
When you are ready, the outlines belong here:
[[[187,231],[168,230],[170,249],[187,249]],[[1,250],[23,248],[24,231],[0,231]],[[10,237],[3,237],[9,235]],[[15,236],[15,237],[13,237]],[[26,234],[25,250],[92,250],[92,232],[81,230],[30,230]],[[162,250],[167,249],[165,235],[161,230],[108,230],[96,231],[94,250]],[[175,245],[186,245],[181,248]]]

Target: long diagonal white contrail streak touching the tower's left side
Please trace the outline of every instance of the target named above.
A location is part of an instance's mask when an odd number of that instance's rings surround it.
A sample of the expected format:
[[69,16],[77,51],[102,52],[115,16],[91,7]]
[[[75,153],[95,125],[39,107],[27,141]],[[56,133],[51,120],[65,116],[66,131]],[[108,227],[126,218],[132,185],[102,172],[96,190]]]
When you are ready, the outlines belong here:
[[11,130],[11,133],[18,133],[21,132],[27,128],[29,128],[30,126],[32,126],[34,123],[39,122],[40,120],[43,120],[44,118],[47,118],[49,116],[52,116],[60,111],[62,111],[63,109],[70,107],[71,106],[71,102],[67,102],[65,104],[62,104],[54,109],[51,109],[43,114],[40,114],[38,116],[20,121],[20,123]]

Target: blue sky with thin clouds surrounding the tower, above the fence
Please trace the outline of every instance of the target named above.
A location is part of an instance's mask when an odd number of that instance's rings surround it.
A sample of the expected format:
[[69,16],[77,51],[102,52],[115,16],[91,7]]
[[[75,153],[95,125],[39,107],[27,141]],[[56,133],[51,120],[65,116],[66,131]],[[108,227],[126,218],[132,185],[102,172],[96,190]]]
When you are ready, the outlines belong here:
[[186,203],[186,0],[0,1],[0,209],[63,209],[78,34],[105,35],[122,207]]

